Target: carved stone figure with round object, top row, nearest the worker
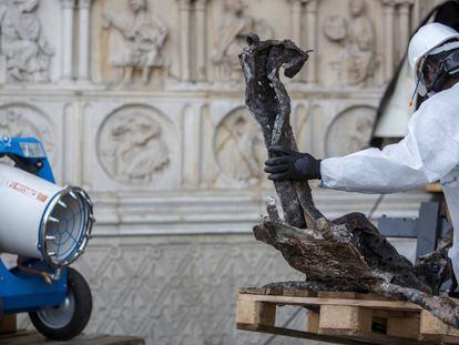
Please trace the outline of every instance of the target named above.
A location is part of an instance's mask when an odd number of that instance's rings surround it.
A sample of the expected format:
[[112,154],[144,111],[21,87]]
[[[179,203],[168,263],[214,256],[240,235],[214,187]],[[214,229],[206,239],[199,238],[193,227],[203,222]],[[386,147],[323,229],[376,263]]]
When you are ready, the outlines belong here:
[[375,28],[367,13],[365,0],[348,1],[349,19],[328,17],[323,26],[325,37],[339,45],[332,61],[343,85],[364,87],[371,83],[379,62],[376,55]]

